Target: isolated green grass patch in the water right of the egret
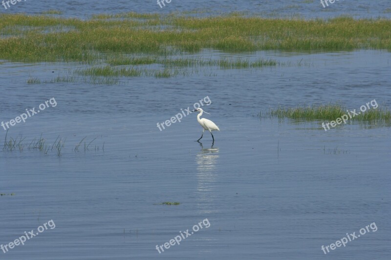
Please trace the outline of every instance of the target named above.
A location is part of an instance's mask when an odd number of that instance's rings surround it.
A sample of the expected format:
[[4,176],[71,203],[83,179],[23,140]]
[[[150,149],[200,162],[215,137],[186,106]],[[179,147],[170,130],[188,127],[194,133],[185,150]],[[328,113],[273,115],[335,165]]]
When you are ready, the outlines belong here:
[[[346,106],[341,103],[329,103],[326,105],[312,105],[312,106],[299,106],[294,108],[283,108],[278,107],[277,109],[269,109],[269,111],[260,113],[261,118],[265,117],[276,117],[279,119],[292,119],[292,120],[307,120],[307,121],[316,121],[316,120],[336,120],[341,118],[343,115],[348,115]],[[357,113],[360,112],[359,109]],[[359,115],[353,116],[353,113],[350,113],[352,116],[349,120],[354,120],[358,122],[379,122],[386,125],[391,125],[391,111],[387,108],[373,107],[366,110],[365,112],[360,112]]]

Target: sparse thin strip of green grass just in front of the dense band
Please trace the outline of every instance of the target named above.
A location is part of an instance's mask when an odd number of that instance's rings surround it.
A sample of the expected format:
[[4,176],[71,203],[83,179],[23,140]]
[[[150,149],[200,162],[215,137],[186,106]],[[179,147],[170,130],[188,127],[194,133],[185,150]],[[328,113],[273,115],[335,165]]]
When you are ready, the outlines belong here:
[[[30,84],[57,83],[57,82],[83,82],[89,84],[107,84],[118,85],[120,80],[113,77],[155,77],[155,78],[171,78],[178,75],[189,76],[199,73],[201,67],[219,67],[221,69],[252,69],[261,67],[273,66],[302,66],[302,60],[297,63],[279,62],[272,59],[202,59],[202,58],[172,58],[172,57],[133,57],[133,56],[116,56],[108,60],[110,65],[93,66],[88,68],[73,70],[73,74],[77,76],[58,76],[50,80],[40,80],[38,78],[30,78],[27,80]],[[163,66],[163,69],[154,69],[143,65]],[[124,67],[124,66],[131,67]],[[309,63],[303,65],[310,66]],[[139,67],[143,66],[143,67]],[[190,69],[187,69],[190,68]],[[210,73],[212,75],[212,73]]]

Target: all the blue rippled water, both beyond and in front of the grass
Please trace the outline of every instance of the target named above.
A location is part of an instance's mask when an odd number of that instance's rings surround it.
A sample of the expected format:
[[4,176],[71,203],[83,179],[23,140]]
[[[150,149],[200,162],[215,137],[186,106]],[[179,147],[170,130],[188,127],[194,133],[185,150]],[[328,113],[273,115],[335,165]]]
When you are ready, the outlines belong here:
[[[194,8],[293,13],[282,1],[258,2],[180,5],[173,0],[156,10],[154,2],[26,1],[12,11],[60,9],[81,18]],[[294,12],[306,18],[345,12],[376,17],[390,7],[388,1],[372,1],[369,8],[359,7],[367,1],[341,1],[331,6],[334,13],[317,1],[289,4],[309,6]],[[121,78],[119,85],[108,86],[26,83],[30,76],[50,80],[84,65],[0,63],[0,121],[51,98],[57,102],[10,128],[8,137],[26,138],[23,151],[0,150],[0,193],[14,193],[0,196],[0,245],[49,220],[56,227],[0,251],[1,259],[389,259],[390,128],[348,122],[325,132],[322,122],[258,114],[278,105],[335,101],[351,110],[371,100],[390,108],[391,53],[204,51],[195,56],[271,58],[290,65],[206,67],[186,77]],[[211,115],[204,116],[221,130],[214,132],[214,143],[209,133],[202,144],[195,142],[202,131],[194,113],[159,131],[156,123],[205,97],[211,103],[203,108]],[[0,140],[5,133],[0,128]],[[46,155],[27,148],[41,134],[49,145]],[[66,138],[60,157],[50,149],[59,135]],[[84,137],[86,145],[96,140],[87,151],[84,143],[74,151]],[[159,204],[164,201],[180,204]],[[155,249],[204,219],[210,227],[161,254]],[[327,255],[321,250],[372,222],[376,232]]]

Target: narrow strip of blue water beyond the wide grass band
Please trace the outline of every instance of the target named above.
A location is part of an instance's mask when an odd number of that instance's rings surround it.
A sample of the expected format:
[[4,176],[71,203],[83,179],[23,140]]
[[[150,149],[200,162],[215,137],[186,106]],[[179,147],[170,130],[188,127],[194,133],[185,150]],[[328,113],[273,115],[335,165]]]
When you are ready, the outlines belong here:
[[172,0],[160,8],[155,0],[95,0],[95,1],[53,1],[26,0],[11,5],[5,9],[0,5],[2,13],[37,14],[48,10],[60,10],[63,16],[88,18],[93,14],[121,12],[155,12],[168,13],[173,11],[201,11],[201,15],[211,15],[226,12],[250,12],[263,17],[302,17],[302,18],[332,18],[350,15],[355,18],[391,18],[389,0],[336,0],[333,4],[323,7],[320,0]]

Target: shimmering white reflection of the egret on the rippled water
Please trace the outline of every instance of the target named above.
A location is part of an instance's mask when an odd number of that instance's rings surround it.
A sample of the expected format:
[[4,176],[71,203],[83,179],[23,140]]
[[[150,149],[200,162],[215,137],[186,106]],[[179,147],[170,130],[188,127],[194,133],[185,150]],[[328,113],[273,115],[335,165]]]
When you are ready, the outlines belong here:
[[217,160],[219,158],[218,148],[204,148],[201,142],[201,151],[195,157],[197,163],[197,191],[198,200],[197,207],[201,213],[216,212],[216,205],[213,201],[216,197],[216,182],[217,182]]

